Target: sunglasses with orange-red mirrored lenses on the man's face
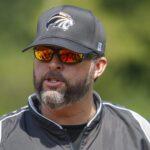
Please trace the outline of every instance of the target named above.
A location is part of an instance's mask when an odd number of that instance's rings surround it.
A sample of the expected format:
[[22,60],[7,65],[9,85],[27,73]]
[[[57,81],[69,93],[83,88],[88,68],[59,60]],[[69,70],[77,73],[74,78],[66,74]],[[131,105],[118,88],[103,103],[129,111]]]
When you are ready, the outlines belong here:
[[38,46],[34,48],[35,58],[39,61],[50,62],[54,54],[56,54],[58,59],[65,64],[77,64],[85,59],[91,60],[98,57],[94,52],[82,54],[65,48],[51,48],[47,46]]

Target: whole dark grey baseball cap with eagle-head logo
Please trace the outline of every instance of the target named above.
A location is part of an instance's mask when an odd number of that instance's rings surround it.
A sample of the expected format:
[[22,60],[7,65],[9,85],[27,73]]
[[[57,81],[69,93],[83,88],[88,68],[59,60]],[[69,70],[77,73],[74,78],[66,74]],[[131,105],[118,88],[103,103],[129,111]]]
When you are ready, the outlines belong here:
[[91,11],[62,5],[41,15],[35,40],[22,51],[39,45],[60,46],[78,53],[95,52],[104,55],[106,37],[102,24]]

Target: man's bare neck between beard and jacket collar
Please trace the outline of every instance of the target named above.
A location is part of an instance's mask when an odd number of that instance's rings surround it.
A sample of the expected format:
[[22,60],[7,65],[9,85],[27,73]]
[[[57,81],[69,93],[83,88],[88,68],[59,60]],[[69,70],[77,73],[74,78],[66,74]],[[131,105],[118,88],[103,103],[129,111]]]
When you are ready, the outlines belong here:
[[93,95],[87,94],[77,103],[61,109],[51,109],[41,105],[41,113],[61,125],[79,125],[87,123],[96,113]]

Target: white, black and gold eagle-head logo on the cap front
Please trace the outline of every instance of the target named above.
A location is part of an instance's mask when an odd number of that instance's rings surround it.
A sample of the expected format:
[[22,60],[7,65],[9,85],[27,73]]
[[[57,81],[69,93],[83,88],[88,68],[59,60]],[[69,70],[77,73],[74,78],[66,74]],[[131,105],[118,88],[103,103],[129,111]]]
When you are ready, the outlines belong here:
[[60,12],[50,18],[50,20],[46,24],[46,29],[49,30],[49,27],[55,27],[63,29],[64,31],[68,30],[69,27],[74,25],[74,20],[72,17],[64,12]]

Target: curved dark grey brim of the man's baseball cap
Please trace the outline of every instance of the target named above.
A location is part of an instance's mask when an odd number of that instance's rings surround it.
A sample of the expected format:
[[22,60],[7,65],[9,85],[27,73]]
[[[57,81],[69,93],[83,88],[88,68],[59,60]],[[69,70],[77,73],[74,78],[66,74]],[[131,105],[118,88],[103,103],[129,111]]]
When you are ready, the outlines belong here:
[[68,39],[62,39],[62,38],[41,38],[36,39],[32,44],[30,44],[28,47],[24,48],[22,51],[25,52],[29,50],[30,48],[33,48],[35,46],[39,45],[47,45],[47,46],[60,46],[67,48],[69,50],[72,50],[77,53],[89,53],[92,52],[91,49],[86,48],[85,46],[82,46],[78,43],[75,43]]

